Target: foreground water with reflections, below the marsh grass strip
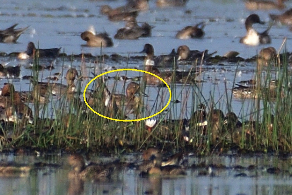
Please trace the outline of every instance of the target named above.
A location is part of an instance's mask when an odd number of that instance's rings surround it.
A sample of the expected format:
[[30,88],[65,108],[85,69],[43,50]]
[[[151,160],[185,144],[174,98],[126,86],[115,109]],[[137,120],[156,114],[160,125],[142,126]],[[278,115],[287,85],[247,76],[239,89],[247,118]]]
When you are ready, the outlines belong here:
[[[278,158],[269,155],[255,157],[188,157],[183,177],[139,177],[137,170],[123,168],[115,171],[107,182],[76,181],[67,178],[70,170],[67,155],[22,156],[1,155],[0,161],[25,163],[32,166],[23,177],[0,177],[1,194],[291,194],[291,157]],[[122,156],[134,162],[140,155]],[[93,157],[93,162],[108,161],[112,158]],[[48,163],[51,167],[34,167],[34,163]],[[58,165],[52,167],[52,165]],[[202,165],[198,167],[199,165]],[[214,168],[214,167],[221,168]],[[251,167],[254,168],[251,168]],[[200,176],[207,167],[213,167],[214,176]],[[249,168],[248,168],[249,167]],[[268,168],[278,167],[279,173],[271,174]],[[237,176],[244,173],[246,176]],[[75,193],[72,193],[75,192]]]

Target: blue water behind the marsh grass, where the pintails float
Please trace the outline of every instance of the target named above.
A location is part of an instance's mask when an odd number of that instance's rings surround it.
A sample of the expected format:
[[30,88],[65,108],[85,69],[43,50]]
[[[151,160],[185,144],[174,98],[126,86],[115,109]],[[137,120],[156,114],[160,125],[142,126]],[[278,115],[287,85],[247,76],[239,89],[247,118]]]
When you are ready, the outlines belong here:
[[[99,14],[100,6],[109,4],[112,7],[117,7],[125,4],[126,1],[5,1],[4,6],[0,8],[1,14],[1,29],[7,28],[14,23],[19,23],[19,27],[30,26],[23,35],[18,39],[17,44],[1,43],[1,51],[6,53],[25,51],[29,41],[39,43],[40,48],[62,47],[62,51],[66,54],[91,53],[99,55],[100,48],[86,47],[85,42],[81,40],[80,33],[86,30],[90,25],[94,25],[97,32],[106,31],[113,37],[118,28],[124,26],[124,22],[110,22],[106,16]],[[155,49],[156,55],[168,54],[171,49],[177,48],[180,45],[188,45],[190,49],[209,49],[210,52],[218,51],[218,55],[223,55],[230,50],[240,52],[240,56],[250,58],[257,54],[262,47],[273,46],[279,49],[284,37],[287,37],[286,49],[291,51],[291,32],[286,26],[275,25],[271,28],[270,35],[272,43],[269,45],[260,45],[250,47],[239,43],[239,38],[245,35],[244,20],[251,13],[244,8],[243,1],[189,1],[185,7],[178,8],[156,8],[155,2],[150,1],[150,10],[141,12],[137,18],[139,22],[148,22],[155,26],[151,37],[139,38],[138,40],[115,40],[114,47],[103,48],[103,54],[117,53],[122,56],[141,55],[137,52],[141,51],[145,43],[151,43]],[[286,2],[287,7],[291,7],[291,2]],[[226,11],[228,10],[228,11]],[[185,13],[190,11],[190,13]],[[268,13],[280,13],[279,11],[257,11],[262,20],[268,22]],[[206,22],[205,37],[203,39],[179,40],[175,39],[177,30],[182,29],[187,25],[194,25],[199,22]],[[266,25],[257,25],[255,28],[258,31],[264,31]],[[7,66],[16,66],[21,64],[20,79],[10,79],[16,85],[16,90],[29,90],[30,85],[28,80],[22,80],[22,76],[31,75],[30,69],[25,69],[31,60],[21,61],[14,57],[1,57],[2,64]],[[40,71],[39,78],[46,78],[56,72],[63,73],[73,66],[78,71],[81,69],[83,76],[92,76],[90,72],[96,64],[85,59],[86,68],[81,68],[81,59],[75,58],[70,60],[66,58],[64,63],[62,58],[57,61],[42,62],[45,66],[52,63],[55,67],[52,71]],[[98,63],[99,65],[99,63]],[[202,73],[202,78],[206,83],[199,85],[202,93],[208,104],[211,99],[218,102],[216,107],[224,109],[226,106],[226,97],[231,97],[231,88],[233,79],[235,82],[254,78],[255,63],[240,63],[238,73],[235,73],[237,64],[225,63],[224,66],[208,66],[208,69]],[[102,63],[103,68],[110,70],[111,66],[115,68],[138,68],[143,69],[143,61],[105,61]],[[91,68],[89,68],[91,67]],[[180,69],[188,69],[190,66],[179,67]],[[204,68],[204,65],[203,65]],[[274,73],[274,72],[273,72]],[[133,73],[127,73],[132,75]],[[137,76],[134,75],[133,76]],[[64,76],[63,76],[64,78]],[[40,80],[40,79],[39,79]],[[47,81],[43,79],[43,81]],[[88,80],[90,81],[90,80]],[[88,81],[84,81],[83,88]],[[0,80],[0,85],[7,82],[6,78]],[[225,82],[227,87],[227,96],[225,93]],[[120,84],[123,85],[123,84]],[[147,90],[147,89],[146,89]],[[146,100],[146,104],[152,107],[151,102],[156,97],[156,90],[153,87],[148,89],[150,98]],[[180,91],[180,90],[176,90]],[[193,94],[189,94],[192,97]],[[151,99],[152,97],[152,99]],[[167,98],[164,105],[167,103]],[[182,95],[178,92],[173,93],[172,100],[183,101]],[[185,110],[185,114],[172,114],[173,118],[188,118],[191,114],[192,103],[187,100],[187,105],[178,105],[180,110]],[[206,102],[204,102],[206,103]],[[236,114],[246,116],[249,114],[250,101],[232,102],[232,110]],[[187,109],[185,109],[185,106]],[[156,113],[153,111],[151,114]],[[50,114],[51,115],[51,114]]]

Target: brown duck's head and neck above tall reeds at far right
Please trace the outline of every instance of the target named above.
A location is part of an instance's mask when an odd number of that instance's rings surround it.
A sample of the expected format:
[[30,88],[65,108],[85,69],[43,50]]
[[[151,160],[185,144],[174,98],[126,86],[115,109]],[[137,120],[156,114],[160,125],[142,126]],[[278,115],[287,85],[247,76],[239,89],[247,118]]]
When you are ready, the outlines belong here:
[[274,47],[262,48],[257,58],[258,69],[260,69],[262,66],[268,66],[269,62],[273,62],[272,64],[275,65],[276,55],[277,51]]

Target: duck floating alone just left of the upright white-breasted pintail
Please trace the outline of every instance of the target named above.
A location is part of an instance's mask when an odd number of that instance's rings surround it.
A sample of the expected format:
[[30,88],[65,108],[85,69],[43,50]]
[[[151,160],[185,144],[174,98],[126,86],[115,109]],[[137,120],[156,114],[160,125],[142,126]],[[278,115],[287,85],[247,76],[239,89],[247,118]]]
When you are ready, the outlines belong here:
[[[201,28],[199,27],[201,25]],[[177,39],[190,39],[190,38],[202,38],[205,35],[203,28],[205,27],[205,23],[201,22],[196,24],[195,26],[187,26],[180,30],[175,38]]]

